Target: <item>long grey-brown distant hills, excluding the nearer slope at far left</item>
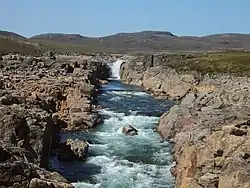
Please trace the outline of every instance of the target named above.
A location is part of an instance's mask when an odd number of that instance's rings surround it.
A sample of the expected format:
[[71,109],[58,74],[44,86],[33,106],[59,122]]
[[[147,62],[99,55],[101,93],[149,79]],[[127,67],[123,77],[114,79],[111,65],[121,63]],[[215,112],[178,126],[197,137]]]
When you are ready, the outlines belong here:
[[250,49],[250,35],[216,34],[204,37],[179,37],[170,32],[142,31],[118,33],[105,37],[85,37],[79,34],[42,34],[34,41],[56,42],[83,46],[98,52],[161,52]]

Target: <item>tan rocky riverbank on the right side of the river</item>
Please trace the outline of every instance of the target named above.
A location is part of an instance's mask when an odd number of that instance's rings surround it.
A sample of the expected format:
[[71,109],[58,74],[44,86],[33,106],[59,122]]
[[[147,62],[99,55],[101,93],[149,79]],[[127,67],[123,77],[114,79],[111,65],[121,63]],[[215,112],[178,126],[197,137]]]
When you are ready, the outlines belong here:
[[209,76],[199,63],[192,55],[136,57],[121,66],[121,79],[178,101],[158,126],[174,143],[176,187],[250,187],[250,78]]

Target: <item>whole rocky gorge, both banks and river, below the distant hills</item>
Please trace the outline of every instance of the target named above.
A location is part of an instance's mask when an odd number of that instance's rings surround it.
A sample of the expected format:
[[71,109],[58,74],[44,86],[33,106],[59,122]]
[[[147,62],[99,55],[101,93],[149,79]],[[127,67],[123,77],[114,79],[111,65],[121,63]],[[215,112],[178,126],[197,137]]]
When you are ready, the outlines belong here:
[[242,57],[2,56],[0,185],[250,187]]

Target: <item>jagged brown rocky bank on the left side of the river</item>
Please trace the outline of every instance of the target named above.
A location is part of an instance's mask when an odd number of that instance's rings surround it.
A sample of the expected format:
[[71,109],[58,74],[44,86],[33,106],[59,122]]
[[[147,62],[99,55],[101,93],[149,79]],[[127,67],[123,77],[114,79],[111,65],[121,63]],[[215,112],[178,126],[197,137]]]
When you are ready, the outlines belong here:
[[95,96],[109,74],[103,62],[111,59],[53,53],[0,57],[0,187],[73,187],[48,171],[49,157],[54,149],[65,160],[69,151],[73,159],[85,157],[86,143],[60,143],[59,133],[102,121]]

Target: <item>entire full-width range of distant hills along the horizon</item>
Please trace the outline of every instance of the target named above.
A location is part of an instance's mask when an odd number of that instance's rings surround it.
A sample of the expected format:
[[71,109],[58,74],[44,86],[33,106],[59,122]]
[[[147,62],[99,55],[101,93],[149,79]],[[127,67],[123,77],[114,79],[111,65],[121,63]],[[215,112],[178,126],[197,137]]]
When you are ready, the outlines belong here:
[[[203,37],[176,36],[166,31],[142,31],[118,33],[104,37],[86,37],[80,34],[47,33],[25,38],[13,32],[0,31],[0,38],[7,37],[25,41],[31,48],[40,47],[77,53],[155,53],[155,52],[199,52],[226,49],[250,50],[250,34],[224,33]],[[6,41],[5,41],[6,42]],[[0,41],[1,45],[1,41]],[[1,45],[5,48],[4,45]],[[20,45],[19,45],[20,46]],[[39,47],[39,48],[40,48]],[[17,48],[19,48],[17,46]],[[16,49],[17,49],[16,48]],[[12,50],[12,49],[8,49]],[[23,49],[20,49],[23,51]]]

